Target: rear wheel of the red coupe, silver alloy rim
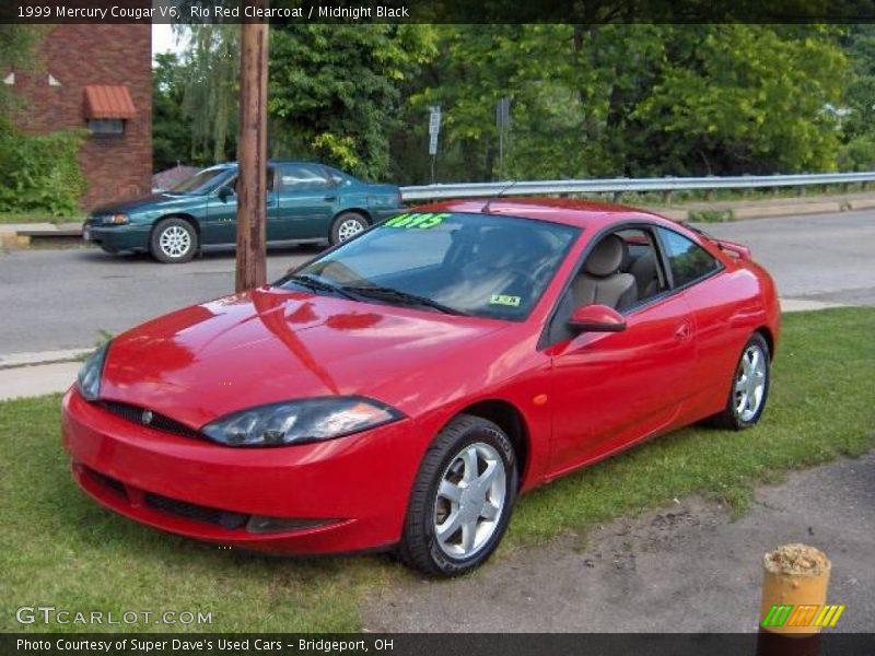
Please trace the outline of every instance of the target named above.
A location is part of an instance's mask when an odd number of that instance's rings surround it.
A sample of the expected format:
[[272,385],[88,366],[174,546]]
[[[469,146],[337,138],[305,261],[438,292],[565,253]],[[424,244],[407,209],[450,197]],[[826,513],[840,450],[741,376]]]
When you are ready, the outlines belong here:
[[722,412],[708,423],[718,429],[743,431],[759,421],[766,409],[771,383],[771,354],[762,335],[755,332],[742,351]]

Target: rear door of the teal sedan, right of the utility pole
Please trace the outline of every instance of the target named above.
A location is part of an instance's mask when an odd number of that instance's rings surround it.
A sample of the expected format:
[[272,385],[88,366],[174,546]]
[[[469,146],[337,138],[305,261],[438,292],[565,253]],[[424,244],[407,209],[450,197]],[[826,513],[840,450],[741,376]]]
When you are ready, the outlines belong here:
[[325,238],[337,203],[337,186],[318,164],[282,164],[278,176],[276,239]]

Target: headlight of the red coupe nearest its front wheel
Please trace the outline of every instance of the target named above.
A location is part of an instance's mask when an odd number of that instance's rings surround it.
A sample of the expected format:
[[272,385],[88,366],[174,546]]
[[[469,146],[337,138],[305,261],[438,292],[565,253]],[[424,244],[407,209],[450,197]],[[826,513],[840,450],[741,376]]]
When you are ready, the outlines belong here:
[[325,397],[271,403],[218,419],[200,432],[229,446],[282,446],[342,437],[404,417],[362,397]]

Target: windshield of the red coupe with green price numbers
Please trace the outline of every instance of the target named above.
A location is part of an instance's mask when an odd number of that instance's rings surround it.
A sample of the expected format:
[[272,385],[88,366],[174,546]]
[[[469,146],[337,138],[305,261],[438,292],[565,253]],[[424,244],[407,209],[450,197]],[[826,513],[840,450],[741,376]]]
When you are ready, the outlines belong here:
[[576,227],[494,214],[407,212],[277,284],[435,312],[522,320]]

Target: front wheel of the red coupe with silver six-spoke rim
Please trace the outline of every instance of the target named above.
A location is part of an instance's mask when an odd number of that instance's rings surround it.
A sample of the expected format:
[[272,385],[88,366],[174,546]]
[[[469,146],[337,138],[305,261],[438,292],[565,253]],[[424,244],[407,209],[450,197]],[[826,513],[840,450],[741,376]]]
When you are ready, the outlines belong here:
[[410,496],[400,559],[427,574],[457,576],[481,565],[504,536],[516,499],[516,455],[508,435],[460,414],[425,453]]

